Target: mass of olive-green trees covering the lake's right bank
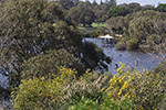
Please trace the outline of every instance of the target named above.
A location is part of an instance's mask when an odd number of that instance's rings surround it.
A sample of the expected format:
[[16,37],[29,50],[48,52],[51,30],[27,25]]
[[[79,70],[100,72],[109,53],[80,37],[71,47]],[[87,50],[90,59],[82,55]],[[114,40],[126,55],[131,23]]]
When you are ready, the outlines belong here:
[[[126,11],[125,11],[125,9]],[[141,7],[138,3],[120,4],[110,10],[112,15],[107,21],[107,28],[112,34],[123,34],[118,50],[136,50],[164,53],[166,50],[166,4]],[[118,11],[117,11],[118,10]],[[122,47],[120,47],[122,46]]]

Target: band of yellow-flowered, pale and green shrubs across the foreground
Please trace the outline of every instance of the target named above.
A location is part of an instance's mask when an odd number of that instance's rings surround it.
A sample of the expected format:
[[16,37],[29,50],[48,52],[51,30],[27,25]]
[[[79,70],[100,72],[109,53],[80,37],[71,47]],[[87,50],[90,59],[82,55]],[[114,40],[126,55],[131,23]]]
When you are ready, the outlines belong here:
[[[21,81],[11,92],[18,110],[134,110],[165,108],[166,76],[164,72],[138,72],[121,63],[117,74],[86,70],[76,79],[77,72],[61,68],[52,79],[33,78]],[[111,78],[111,79],[110,79]],[[108,81],[110,80],[110,81]]]

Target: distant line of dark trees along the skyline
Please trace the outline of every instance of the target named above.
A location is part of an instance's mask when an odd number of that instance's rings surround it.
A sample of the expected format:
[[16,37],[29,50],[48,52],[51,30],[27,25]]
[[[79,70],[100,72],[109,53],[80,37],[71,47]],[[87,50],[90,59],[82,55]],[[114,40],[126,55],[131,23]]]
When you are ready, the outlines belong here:
[[116,4],[116,0],[105,0],[100,4],[94,0],[85,2],[81,0],[56,0],[64,9],[66,20],[71,21],[75,25],[83,24],[89,25],[93,22],[103,23],[113,16],[125,16],[126,14],[138,12],[141,10],[157,10],[159,12],[166,12],[165,4],[158,4],[157,8],[147,4],[141,6],[137,2]]

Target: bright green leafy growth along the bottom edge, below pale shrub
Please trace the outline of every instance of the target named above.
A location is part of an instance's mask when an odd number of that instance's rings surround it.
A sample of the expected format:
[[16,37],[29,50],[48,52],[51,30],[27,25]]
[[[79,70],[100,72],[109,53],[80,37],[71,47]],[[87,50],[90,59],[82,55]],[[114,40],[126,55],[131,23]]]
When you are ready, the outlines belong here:
[[134,106],[129,100],[111,100],[111,97],[103,95],[103,101],[100,103],[97,100],[82,99],[70,107],[69,110],[134,110]]

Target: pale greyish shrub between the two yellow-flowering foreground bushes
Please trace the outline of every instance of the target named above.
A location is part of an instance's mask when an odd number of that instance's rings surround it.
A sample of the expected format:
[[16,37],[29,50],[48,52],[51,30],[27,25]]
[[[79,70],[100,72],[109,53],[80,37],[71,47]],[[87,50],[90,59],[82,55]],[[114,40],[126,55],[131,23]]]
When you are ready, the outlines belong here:
[[96,73],[90,73],[80,77],[62,89],[62,107],[69,108],[81,101],[81,98],[90,100],[102,100],[102,92],[106,88],[108,76],[96,75]]

